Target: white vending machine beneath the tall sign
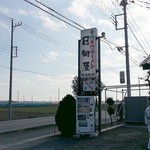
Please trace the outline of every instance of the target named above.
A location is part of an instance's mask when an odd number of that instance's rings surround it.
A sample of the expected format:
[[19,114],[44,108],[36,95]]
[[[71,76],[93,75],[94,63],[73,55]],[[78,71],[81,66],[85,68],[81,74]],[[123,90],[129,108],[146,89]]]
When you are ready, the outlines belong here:
[[95,102],[94,96],[77,96],[76,135],[96,134]]

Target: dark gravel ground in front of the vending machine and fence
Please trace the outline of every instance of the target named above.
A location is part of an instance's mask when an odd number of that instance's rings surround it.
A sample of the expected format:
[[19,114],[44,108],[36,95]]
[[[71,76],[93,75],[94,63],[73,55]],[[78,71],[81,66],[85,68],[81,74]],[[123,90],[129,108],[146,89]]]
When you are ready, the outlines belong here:
[[119,127],[95,138],[49,137],[32,150],[146,150],[146,127]]

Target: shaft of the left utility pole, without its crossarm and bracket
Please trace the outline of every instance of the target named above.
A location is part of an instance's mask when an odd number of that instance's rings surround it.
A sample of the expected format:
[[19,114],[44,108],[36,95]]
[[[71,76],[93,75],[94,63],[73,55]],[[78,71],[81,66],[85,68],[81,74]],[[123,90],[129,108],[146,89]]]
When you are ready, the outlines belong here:
[[12,119],[12,70],[13,70],[13,19],[11,20],[10,81],[9,81],[9,119]]

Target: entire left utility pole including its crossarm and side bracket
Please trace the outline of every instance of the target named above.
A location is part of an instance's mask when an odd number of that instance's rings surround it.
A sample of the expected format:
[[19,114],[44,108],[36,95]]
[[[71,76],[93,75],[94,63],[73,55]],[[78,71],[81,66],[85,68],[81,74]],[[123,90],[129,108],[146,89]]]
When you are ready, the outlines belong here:
[[[13,33],[17,26],[22,25],[21,22],[14,24],[13,18],[11,19],[11,45],[10,45],[10,81],[9,81],[9,119],[12,119],[12,71],[13,71],[13,58],[17,57],[17,47],[13,46]],[[16,49],[14,55],[13,50]]]

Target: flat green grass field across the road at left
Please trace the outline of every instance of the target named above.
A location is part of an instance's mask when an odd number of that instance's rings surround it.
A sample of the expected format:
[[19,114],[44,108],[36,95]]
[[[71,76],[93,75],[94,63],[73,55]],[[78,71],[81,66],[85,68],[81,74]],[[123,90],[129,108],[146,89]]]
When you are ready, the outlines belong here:
[[[35,107],[12,107],[12,119],[46,117],[55,115],[58,104]],[[9,108],[0,108],[0,121],[8,120]]]

